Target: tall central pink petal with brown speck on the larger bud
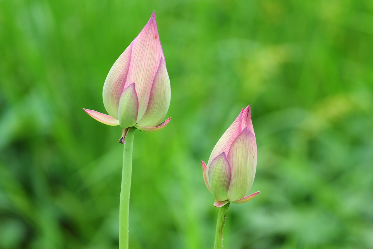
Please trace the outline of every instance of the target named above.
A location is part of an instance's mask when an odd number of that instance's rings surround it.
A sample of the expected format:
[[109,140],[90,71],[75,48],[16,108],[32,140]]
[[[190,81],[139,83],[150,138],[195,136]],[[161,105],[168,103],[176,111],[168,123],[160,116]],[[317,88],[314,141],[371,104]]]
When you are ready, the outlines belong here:
[[131,64],[126,86],[135,82],[139,99],[138,117],[141,119],[148,107],[151,86],[159,61],[161,57],[164,58],[154,13],[132,43]]

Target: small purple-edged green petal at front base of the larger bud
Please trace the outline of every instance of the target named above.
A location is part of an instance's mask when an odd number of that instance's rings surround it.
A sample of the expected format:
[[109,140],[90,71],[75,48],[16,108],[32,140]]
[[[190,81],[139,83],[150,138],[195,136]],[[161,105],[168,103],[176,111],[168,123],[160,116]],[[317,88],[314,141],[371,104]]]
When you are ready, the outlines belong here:
[[138,113],[138,99],[135,84],[130,84],[124,89],[119,100],[119,124],[122,129],[135,126]]

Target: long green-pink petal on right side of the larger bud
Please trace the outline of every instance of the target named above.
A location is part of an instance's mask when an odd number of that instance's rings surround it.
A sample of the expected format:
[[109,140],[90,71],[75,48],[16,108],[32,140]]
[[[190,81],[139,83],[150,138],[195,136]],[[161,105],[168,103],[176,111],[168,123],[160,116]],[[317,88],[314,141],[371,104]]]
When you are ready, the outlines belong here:
[[161,58],[158,71],[154,77],[153,86],[151,87],[148,108],[144,117],[138,122],[138,125],[154,127],[159,124],[164,119],[164,116],[166,116],[170,100],[170,79],[166,69],[166,62]]

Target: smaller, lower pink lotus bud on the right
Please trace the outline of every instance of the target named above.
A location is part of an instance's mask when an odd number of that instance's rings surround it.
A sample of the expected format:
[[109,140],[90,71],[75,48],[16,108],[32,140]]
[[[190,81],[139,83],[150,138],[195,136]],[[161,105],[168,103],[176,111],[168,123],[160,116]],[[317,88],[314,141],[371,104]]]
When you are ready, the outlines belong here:
[[202,161],[203,178],[215,198],[214,206],[253,199],[259,191],[246,195],[253,185],[256,164],[257,145],[248,105],[219,139],[207,166]]

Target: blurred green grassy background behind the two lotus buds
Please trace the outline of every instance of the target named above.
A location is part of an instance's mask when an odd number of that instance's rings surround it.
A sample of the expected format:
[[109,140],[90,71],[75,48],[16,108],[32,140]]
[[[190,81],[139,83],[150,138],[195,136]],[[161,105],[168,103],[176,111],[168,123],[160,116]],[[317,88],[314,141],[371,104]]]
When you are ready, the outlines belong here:
[[212,248],[201,160],[251,103],[224,248],[373,248],[373,1],[0,1],[0,248],[117,248],[110,67],[156,10],[166,128],[135,133],[130,248]]

